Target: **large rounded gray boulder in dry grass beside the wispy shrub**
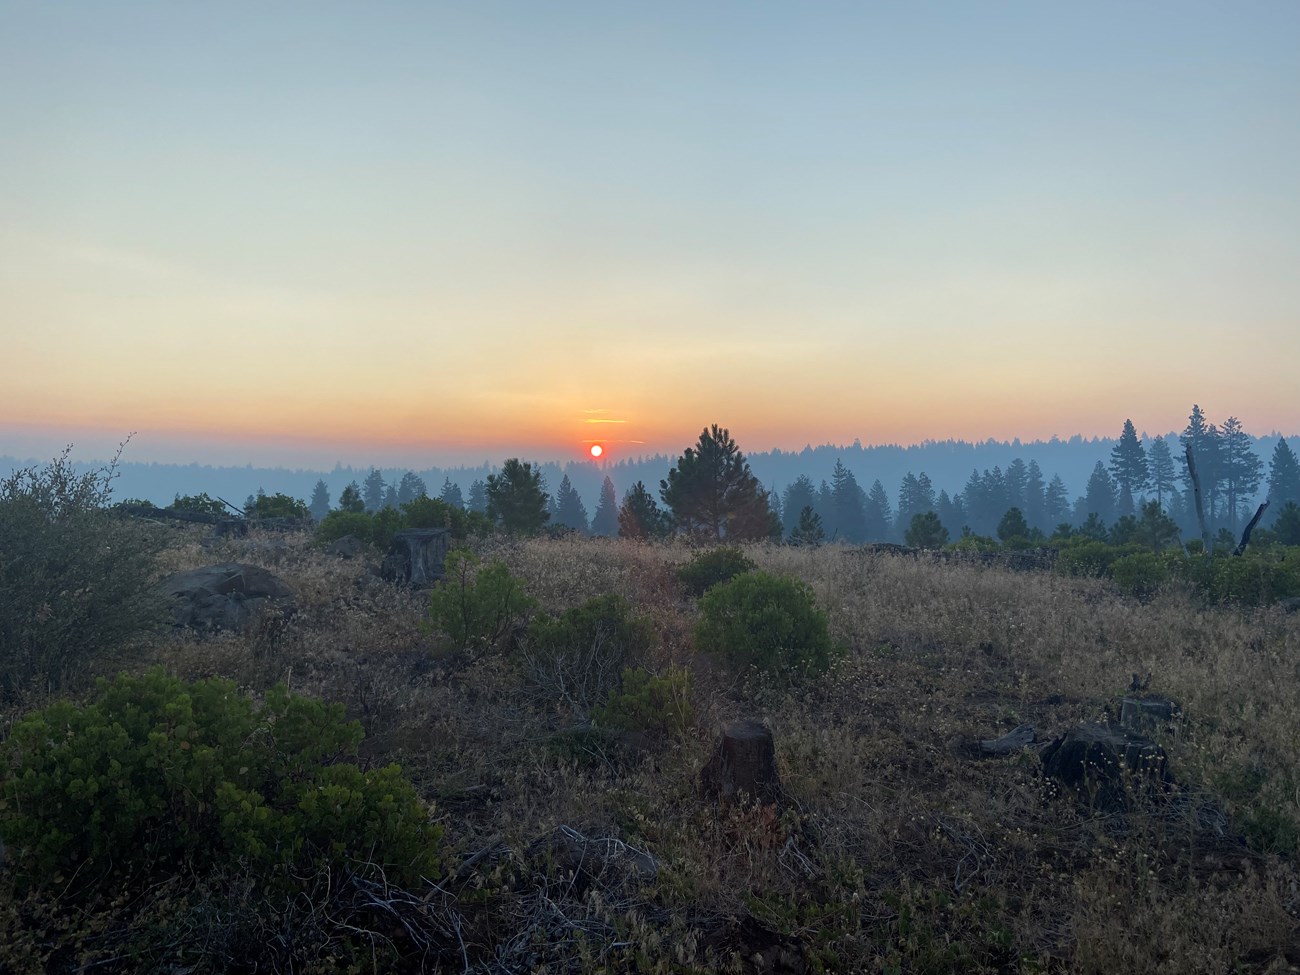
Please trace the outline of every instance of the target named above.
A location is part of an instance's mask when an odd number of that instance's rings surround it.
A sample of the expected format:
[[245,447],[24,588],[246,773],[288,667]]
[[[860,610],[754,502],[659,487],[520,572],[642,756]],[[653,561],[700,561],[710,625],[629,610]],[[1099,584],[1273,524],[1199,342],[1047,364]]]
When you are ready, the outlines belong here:
[[226,562],[181,572],[159,586],[173,601],[173,624],[240,632],[268,610],[291,615],[296,594],[260,566]]

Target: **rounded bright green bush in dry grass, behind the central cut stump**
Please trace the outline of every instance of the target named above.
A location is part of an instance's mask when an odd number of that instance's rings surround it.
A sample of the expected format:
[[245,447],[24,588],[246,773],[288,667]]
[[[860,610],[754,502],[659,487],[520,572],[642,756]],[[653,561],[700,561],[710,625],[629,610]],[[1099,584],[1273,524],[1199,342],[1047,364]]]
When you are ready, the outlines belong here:
[[824,673],[837,653],[812,590],[766,572],[746,572],[705,593],[696,642],[738,671],[792,679]]

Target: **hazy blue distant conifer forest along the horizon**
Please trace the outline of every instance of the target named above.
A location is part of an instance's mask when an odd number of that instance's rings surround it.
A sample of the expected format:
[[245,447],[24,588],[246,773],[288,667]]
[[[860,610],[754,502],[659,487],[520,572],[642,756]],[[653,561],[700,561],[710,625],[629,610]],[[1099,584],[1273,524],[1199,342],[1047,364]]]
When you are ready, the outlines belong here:
[[[1282,437],[1247,434],[1235,417],[1219,425],[1209,422],[1200,407],[1193,407],[1182,432],[1154,437],[1139,436],[1126,421],[1117,438],[927,441],[913,446],[854,442],[800,451],[746,451],[746,458],[771,491],[786,530],[810,506],[820,515],[827,537],[840,541],[900,540],[911,516],[924,511],[935,511],[952,537],[962,529],[993,534],[1011,507],[1022,511],[1031,528],[1050,532],[1062,521],[1082,524],[1089,514],[1112,523],[1140,510],[1145,498],[1160,500],[1187,536],[1195,533],[1196,515],[1183,459],[1186,442],[1197,455],[1212,530],[1236,530],[1262,500],[1270,478],[1280,476],[1273,491],[1279,502],[1275,508],[1287,499],[1300,500],[1300,486],[1291,484],[1288,473],[1294,454]],[[653,455],[604,464],[541,462],[538,467],[552,499],[568,478],[564,488],[581,498],[586,511],[595,511],[606,477],[619,497],[637,481],[658,494],[659,481],[675,460]],[[0,456],[0,472],[30,463],[36,462]],[[370,491],[365,493],[391,494],[384,498],[386,503],[426,490],[477,507],[481,485],[495,469],[489,464],[419,471],[335,465],[321,472],[127,460],[118,465],[113,491],[118,500],[138,498],[160,506],[178,495],[205,493],[238,507],[265,493],[315,500],[313,507],[320,507],[324,485],[328,503],[338,507],[348,485],[364,491],[369,480]]]

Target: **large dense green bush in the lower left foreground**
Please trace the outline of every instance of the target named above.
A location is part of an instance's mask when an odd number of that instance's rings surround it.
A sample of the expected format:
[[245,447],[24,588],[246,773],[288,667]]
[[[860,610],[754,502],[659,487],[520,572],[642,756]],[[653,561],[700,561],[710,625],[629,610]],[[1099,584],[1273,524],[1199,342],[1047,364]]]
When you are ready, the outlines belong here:
[[347,760],[360,740],[342,705],[283,688],[256,706],[225,680],[122,675],[14,725],[0,838],[20,887],[86,894],[235,862],[286,889],[321,864],[436,876],[439,828],[396,766]]

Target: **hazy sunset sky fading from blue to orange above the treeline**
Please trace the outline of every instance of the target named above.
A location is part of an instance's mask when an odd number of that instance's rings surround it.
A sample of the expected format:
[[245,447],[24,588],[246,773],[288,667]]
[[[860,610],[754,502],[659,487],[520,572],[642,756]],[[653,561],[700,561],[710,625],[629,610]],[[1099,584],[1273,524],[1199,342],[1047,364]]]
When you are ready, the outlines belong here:
[[0,0],[0,454],[1027,439],[1193,402],[1296,433],[1297,38],[1292,0]]

